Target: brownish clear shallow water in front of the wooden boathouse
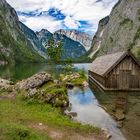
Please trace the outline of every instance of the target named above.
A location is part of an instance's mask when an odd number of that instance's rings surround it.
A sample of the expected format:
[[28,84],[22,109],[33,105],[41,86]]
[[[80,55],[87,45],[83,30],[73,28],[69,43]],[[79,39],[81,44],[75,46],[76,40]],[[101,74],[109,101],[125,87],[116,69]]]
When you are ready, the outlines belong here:
[[[120,120],[118,123],[127,140],[140,138],[140,93],[139,92],[104,92],[90,84],[99,103]],[[124,119],[125,115],[125,119]],[[124,119],[124,120],[123,120]],[[122,121],[123,120],[123,121]],[[121,123],[120,123],[121,122]]]

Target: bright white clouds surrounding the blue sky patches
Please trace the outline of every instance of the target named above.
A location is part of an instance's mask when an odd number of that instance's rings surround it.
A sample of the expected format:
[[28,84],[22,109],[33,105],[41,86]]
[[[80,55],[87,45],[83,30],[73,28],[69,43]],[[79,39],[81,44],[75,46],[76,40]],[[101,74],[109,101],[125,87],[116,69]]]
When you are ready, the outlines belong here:
[[46,17],[23,17],[19,18],[33,30],[47,28],[55,31],[63,28],[63,23],[68,28],[78,29],[79,20],[88,21],[91,24],[90,32],[97,30],[98,22],[107,16],[113,5],[118,0],[7,0],[17,11],[48,11],[50,8],[56,8],[66,16],[64,21],[56,21],[50,16]]

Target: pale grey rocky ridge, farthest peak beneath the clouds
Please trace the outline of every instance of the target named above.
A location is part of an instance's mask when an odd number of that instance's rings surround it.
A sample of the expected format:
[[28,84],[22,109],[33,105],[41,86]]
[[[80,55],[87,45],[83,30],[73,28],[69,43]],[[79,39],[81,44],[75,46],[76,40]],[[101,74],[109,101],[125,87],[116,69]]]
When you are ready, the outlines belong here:
[[92,36],[84,33],[84,32],[79,32],[77,30],[58,30],[55,33],[65,35],[68,38],[71,38],[74,41],[80,42],[85,49],[88,51],[91,48],[91,43],[92,43]]

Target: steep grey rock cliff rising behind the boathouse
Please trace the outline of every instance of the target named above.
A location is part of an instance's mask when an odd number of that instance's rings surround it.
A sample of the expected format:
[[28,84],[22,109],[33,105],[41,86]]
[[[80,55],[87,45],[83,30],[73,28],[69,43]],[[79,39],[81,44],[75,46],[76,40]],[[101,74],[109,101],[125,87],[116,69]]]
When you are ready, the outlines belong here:
[[99,22],[89,56],[131,49],[140,58],[140,0],[119,0]]

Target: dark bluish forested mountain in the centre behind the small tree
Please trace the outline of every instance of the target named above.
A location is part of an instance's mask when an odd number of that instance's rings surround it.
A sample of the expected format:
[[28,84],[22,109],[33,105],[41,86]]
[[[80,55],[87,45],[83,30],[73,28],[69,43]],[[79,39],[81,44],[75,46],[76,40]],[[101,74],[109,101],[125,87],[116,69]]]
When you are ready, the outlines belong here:
[[50,33],[46,29],[42,29],[40,32],[36,32],[37,37],[39,38],[42,45],[45,47],[45,44],[53,35],[56,42],[62,41],[63,44],[63,54],[62,58],[78,58],[86,53],[86,50],[82,44],[77,41],[72,40],[71,38],[58,34],[55,32],[54,34]]

